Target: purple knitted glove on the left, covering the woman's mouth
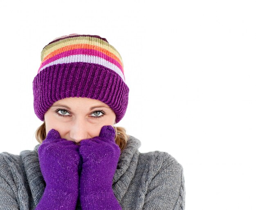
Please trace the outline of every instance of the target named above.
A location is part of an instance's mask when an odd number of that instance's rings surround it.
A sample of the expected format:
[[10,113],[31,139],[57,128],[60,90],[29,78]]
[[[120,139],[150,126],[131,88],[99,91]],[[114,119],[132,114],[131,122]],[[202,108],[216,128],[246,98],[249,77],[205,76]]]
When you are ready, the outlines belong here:
[[46,183],[36,210],[72,210],[79,194],[79,146],[61,139],[52,129],[38,147],[40,169]]

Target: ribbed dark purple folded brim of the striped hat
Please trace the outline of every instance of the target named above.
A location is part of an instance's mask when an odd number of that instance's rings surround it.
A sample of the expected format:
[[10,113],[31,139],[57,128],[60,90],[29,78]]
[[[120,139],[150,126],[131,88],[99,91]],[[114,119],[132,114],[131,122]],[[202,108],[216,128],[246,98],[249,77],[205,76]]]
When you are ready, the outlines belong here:
[[56,101],[86,97],[106,103],[118,123],[128,106],[129,88],[111,69],[94,63],[63,63],[46,67],[33,80],[34,111],[41,121]]

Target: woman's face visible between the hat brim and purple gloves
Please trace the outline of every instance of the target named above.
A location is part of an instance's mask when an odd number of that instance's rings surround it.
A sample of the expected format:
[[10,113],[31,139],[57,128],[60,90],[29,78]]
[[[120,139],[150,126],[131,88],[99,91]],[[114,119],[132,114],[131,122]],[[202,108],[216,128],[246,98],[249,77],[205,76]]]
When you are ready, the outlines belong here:
[[46,134],[57,130],[61,138],[79,145],[83,139],[99,136],[104,125],[114,126],[115,113],[105,103],[91,98],[64,98],[45,113]]

